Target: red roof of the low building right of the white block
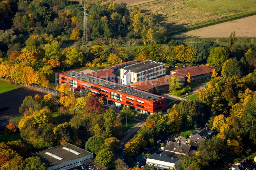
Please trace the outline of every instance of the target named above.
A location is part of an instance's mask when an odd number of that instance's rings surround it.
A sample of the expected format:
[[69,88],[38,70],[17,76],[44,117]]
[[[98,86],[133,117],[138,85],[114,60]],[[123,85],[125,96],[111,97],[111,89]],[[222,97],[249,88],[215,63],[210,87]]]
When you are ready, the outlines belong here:
[[208,66],[203,65],[203,66],[194,66],[190,68],[185,68],[185,69],[178,69],[178,70],[173,70],[171,72],[176,72],[182,75],[188,75],[188,72],[190,73],[191,76],[197,76],[201,74],[207,74],[212,72],[212,69],[210,69]]

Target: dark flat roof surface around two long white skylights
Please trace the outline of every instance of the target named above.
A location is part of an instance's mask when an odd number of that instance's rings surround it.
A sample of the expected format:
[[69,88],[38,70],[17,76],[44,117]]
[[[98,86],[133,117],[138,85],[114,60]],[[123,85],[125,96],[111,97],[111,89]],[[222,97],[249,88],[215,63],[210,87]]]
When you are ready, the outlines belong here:
[[[62,149],[63,147],[73,149],[77,152],[80,152],[81,154],[76,155],[76,154],[74,154],[70,151]],[[46,152],[53,153],[57,156],[62,157],[63,159],[58,160],[58,159],[56,159],[52,156],[49,156],[49,155],[45,154]],[[54,147],[54,148],[50,148],[50,149],[46,149],[46,150],[43,150],[43,151],[40,151],[40,152],[36,152],[36,153],[30,154],[30,155],[27,155],[25,157],[38,156],[38,157],[40,157],[40,159],[43,163],[47,164],[50,167],[50,166],[58,165],[58,164],[61,164],[61,163],[67,162],[67,161],[78,159],[80,157],[90,155],[90,154],[93,154],[93,153],[91,153],[89,151],[86,151],[82,148],[76,147],[76,146],[74,146],[70,143],[66,143],[64,145],[60,145],[60,146],[57,146],[57,147]]]

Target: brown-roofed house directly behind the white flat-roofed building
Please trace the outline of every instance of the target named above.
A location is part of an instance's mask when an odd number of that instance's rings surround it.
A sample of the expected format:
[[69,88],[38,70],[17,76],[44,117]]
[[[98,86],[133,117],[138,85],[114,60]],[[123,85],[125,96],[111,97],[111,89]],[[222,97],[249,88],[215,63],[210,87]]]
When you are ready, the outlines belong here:
[[168,141],[164,147],[164,150],[177,154],[188,155],[190,157],[193,156],[193,148],[191,147],[191,145],[187,144]]

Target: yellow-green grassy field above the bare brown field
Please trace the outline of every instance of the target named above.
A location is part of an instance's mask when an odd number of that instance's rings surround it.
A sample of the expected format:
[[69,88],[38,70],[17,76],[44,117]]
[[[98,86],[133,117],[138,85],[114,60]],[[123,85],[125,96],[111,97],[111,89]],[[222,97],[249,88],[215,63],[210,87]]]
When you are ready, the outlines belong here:
[[[126,1],[128,2],[128,0]],[[256,11],[256,1],[166,0],[145,4],[139,8],[146,14],[156,13],[156,21],[161,25],[166,25],[168,30],[172,31],[236,14]]]

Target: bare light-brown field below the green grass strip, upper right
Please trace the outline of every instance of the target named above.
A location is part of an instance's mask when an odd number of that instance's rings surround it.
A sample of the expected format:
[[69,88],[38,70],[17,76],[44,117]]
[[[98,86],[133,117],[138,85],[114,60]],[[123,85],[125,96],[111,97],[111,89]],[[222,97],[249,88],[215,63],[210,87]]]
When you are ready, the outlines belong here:
[[236,37],[256,37],[256,16],[250,16],[233,21],[223,22],[205,28],[175,34],[173,38],[187,37],[229,37],[236,31]]

